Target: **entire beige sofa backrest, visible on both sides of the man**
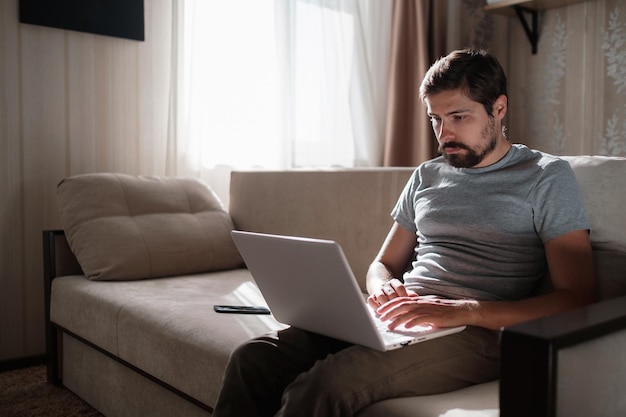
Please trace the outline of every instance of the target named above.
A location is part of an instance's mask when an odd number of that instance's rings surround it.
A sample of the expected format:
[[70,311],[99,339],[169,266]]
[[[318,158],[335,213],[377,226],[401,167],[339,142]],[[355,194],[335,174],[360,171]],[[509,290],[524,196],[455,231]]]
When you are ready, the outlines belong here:
[[[599,297],[626,295],[626,158],[564,159],[574,170],[591,222]],[[412,171],[234,171],[230,215],[241,230],[336,240],[365,289],[365,273]]]

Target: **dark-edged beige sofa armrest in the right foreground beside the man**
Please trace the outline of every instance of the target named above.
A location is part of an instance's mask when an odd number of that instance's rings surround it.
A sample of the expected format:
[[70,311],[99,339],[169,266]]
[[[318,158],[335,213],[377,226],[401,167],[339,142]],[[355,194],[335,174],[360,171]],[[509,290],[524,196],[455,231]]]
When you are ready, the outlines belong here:
[[507,327],[501,338],[500,417],[626,413],[626,297]]

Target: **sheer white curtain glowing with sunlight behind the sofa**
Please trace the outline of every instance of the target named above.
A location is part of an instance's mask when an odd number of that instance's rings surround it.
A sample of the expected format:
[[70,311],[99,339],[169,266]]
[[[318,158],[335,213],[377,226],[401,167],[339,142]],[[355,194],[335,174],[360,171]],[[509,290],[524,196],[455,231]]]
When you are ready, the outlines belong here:
[[392,2],[173,4],[177,172],[381,164]]

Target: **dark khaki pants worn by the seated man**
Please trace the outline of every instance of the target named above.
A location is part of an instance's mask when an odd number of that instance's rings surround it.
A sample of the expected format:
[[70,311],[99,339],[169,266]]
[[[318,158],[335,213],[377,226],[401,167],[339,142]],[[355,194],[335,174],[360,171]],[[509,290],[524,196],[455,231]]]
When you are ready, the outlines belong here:
[[375,402],[498,378],[498,332],[460,333],[389,352],[288,328],[237,348],[214,417],[352,417]]

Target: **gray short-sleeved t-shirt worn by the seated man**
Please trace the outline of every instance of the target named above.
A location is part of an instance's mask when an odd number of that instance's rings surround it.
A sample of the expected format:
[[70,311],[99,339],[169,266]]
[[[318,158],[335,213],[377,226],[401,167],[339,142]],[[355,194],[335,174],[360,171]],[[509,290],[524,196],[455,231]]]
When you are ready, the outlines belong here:
[[417,234],[405,285],[447,298],[526,298],[547,273],[544,243],[589,229],[569,164],[524,145],[484,168],[421,164],[391,215]]

